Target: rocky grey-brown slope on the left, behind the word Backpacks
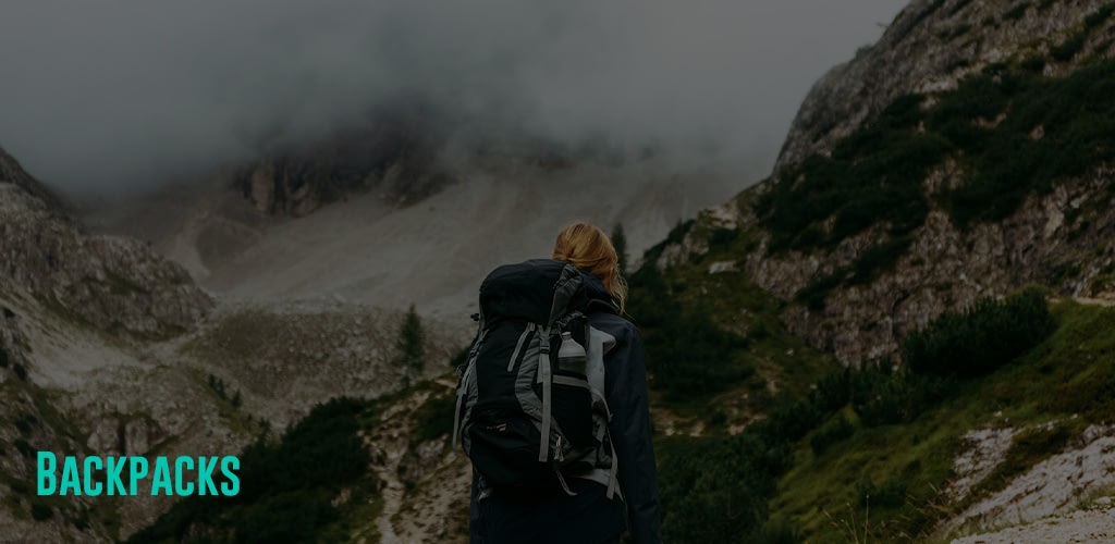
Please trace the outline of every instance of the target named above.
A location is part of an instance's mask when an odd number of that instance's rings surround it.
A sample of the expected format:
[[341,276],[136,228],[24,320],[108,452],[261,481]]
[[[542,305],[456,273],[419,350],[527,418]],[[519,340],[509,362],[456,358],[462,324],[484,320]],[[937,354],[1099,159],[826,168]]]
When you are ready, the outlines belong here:
[[376,397],[404,377],[437,375],[463,342],[459,329],[426,323],[429,362],[415,371],[394,362],[400,312],[214,299],[148,244],[84,232],[3,158],[12,181],[0,179],[0,533],[114,540],[174,503],[38,497],[38,450],[236,454],[334,396]]

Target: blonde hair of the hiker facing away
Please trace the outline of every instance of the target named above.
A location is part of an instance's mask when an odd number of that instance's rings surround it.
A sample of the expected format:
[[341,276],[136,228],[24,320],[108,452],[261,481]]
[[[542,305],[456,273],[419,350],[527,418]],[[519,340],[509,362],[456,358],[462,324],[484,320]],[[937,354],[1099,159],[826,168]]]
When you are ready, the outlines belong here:
[[558,233],[553,259],[569,261],[597,276],[612,295],[620,313],[627,305],[627,281],[620,273],[619,254],[612,241],[595,225],[572,223]]

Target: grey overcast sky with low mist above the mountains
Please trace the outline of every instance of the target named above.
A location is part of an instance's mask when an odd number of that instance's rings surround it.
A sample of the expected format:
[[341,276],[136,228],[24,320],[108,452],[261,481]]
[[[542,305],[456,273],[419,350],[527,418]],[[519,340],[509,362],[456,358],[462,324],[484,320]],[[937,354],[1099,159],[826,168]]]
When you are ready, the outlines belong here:
[[0,146],[70,192],[312,139],[388,97],[766,173],[809,86],[901,0],[4,0]]

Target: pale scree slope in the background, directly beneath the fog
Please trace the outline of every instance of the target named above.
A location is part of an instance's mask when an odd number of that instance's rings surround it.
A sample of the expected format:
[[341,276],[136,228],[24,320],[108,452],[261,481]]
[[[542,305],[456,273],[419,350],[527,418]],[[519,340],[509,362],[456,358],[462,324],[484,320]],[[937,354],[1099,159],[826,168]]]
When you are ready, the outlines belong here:
[[545,255],[565,223],[583,218],[611,229],[622,222],[634,260],[681,217],[729,196],[734,183],[721,174],[677,174],[656,158],[555,168],[539,164],[540,157],[522,149],[488,155],[452,171],[456,183],[407,206],[369,190],[309,215],[274,216],[254,208],[224,177],[168,187],[85,218],[98,232],[151,241],[223,297],[324,298],[397,309],[414,302],[425,315],[468,326],[484,274]]

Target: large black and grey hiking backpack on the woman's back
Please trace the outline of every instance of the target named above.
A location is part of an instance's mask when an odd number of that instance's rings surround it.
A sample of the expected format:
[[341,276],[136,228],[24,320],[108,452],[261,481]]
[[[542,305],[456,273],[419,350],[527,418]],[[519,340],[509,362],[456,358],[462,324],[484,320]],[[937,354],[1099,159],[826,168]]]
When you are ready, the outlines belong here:
[[[608,485],[609,498],[615,492],[601,339],[589,326],[586,281],[572,264],[534,260],[500,266],[481,285],[453,443],[459,430],[473,467],[501,493],[572,494],[569,476]],[[610,465],[603,476],[601,463]]]

